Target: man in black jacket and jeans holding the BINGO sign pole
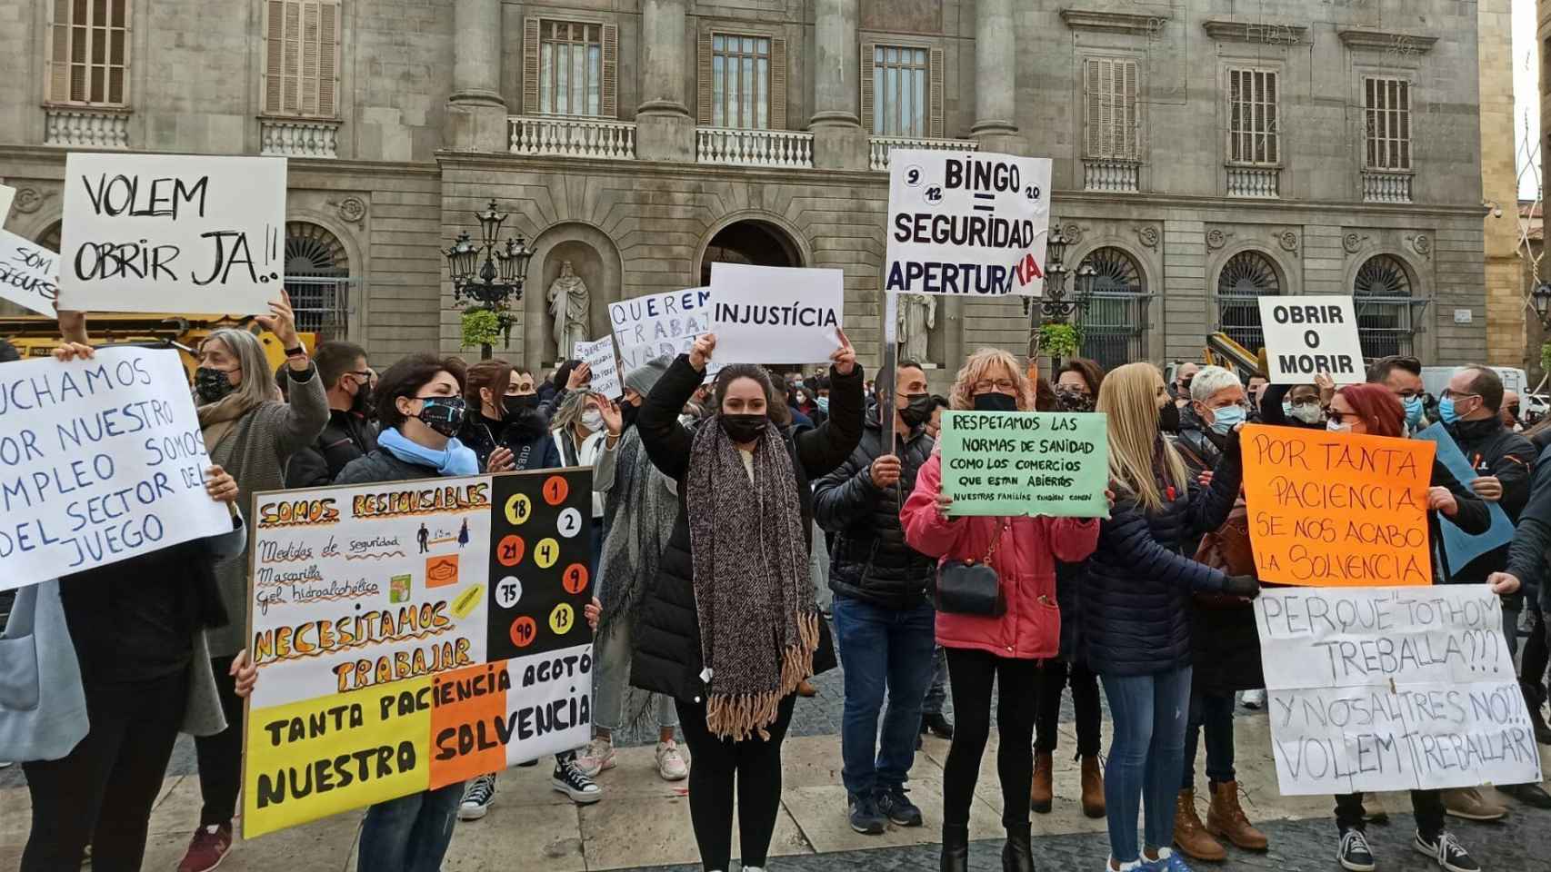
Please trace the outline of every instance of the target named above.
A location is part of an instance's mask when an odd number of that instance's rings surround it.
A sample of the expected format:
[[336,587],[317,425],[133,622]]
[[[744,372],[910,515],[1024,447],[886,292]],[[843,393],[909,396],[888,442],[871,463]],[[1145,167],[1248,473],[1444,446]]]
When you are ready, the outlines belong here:
[[[814,517],[834,533],[830,590],[845,666],[841,778],[858,833],[881,833],[887,821],[921,826],[921,810],[906,798],[904,781],[915,762],[921,702],[932,678],[937,615],[926,585],[937,561],[904,544],[900,506],[932,455],[924,427],[932,397],[926,372],[914,362],[900,364],[895,390],[892,406],[879,398],[869,410],[856,451],[813,489]],[[886,449],[887,423],[878,417],[883,407],[895,410],[893,451]],[[884,691],[889,712],[881,742],[875,742]]]

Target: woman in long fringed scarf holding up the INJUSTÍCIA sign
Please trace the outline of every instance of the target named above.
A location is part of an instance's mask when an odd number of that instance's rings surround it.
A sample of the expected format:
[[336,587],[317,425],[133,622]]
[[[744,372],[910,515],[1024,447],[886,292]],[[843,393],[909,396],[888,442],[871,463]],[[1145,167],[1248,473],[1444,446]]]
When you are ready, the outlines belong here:
[[707,872],[732,857],[734,784],[743,869],[765,866],[780,808],[780,747],[797,685],[834,664],[814,606],[810,479],[845,462],[862,434],[862,370],[841,333],[830,420],[788,435],[763,367],[717,375],[717,414],[693,432],[679,410],[704,378],[713,335],[679,355],[641,407],[641,441],[678,483],[679,513],[636,621],[631,685],[676,700],[693,767],[690,819]]

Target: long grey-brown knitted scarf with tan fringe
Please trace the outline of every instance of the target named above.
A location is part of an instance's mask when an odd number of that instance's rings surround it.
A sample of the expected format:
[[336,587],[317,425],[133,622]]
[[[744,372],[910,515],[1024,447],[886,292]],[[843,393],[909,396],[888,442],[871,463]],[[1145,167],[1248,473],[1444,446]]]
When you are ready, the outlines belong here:
[[819,613],[808,575],[797,477],[780,432],[754,448],[754,486],[720,421],[695,434],[684,477],[706,726],[741,742],[766,730],[780,702],[813,675]]

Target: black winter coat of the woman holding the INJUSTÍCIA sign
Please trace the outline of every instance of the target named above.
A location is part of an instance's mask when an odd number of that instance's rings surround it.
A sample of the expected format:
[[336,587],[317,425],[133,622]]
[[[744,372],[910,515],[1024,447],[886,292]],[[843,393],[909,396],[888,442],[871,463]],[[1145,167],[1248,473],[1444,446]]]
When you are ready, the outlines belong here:
[[[783,434],[797,479],[802,503],[802,528],[807,547],[813,542],[811,477],[839,466],[856,449],[862,434],[862,367],[851,375],[831,372],[830,420],[822,427]],[[651,457],[651,465],[673,479],[684,494],[693,435],[678,423],[679,410],[695,393],[704,376],[689,366],[689,355],[679,355],[641,404],[636,429]],[[718,426],[707,421],[706,426]],[[757,524],[760,519],[729,517],[726,524]],[[679,500],[678,520],[658,568],[658,578],[641,606],[636,621],[636,651],[630,664],[630,683],[642,691],[664,694],[686,703],[704,699],[704,655],[700,644],[700,612],[695,606],[695,570],[690,558],[689,510]],[[814,672],[834,666],[834,643],[828,623],[819,621],[819,651],[813,655]]]

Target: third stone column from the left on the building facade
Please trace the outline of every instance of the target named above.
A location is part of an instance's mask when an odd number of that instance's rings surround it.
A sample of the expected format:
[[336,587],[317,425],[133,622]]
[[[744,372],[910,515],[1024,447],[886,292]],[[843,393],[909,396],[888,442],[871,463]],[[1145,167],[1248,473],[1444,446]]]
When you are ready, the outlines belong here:
[[816,0],[813,59],[813,166],[867,169],[867,132],[856,118],[858,0]]

